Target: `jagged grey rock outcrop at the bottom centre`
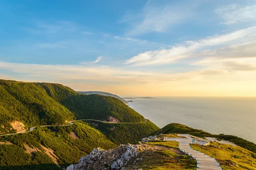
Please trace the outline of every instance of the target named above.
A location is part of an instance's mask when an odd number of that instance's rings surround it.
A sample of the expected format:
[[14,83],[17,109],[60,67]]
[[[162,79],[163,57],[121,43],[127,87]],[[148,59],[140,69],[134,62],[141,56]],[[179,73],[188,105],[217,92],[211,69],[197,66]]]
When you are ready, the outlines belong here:
[[125,170],[125,165],[140,154],[144,144],[120,145],[115,149],[94,148],[87,156],[81,157],[78,164],[72,164],[67,170]]

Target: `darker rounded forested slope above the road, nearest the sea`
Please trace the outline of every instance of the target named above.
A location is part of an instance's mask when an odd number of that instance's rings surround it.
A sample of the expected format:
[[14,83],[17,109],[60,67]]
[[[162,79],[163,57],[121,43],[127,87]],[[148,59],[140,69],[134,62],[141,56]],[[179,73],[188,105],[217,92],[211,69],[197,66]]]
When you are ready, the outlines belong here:
[[77,119],[108,120],[113,116],[120,122],[144,122],[142,115],[119,99],[98,94],[71,96],[61,102],[75,113]]

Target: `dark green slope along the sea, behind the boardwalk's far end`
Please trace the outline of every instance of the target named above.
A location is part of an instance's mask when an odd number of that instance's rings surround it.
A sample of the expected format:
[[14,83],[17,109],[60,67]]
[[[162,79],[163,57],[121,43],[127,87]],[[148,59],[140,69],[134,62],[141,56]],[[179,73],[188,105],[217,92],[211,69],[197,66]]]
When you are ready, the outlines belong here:
[[191,135],[200,136],[200,137],[212,136],[212,137],[215,137],[220,140],[224,139],[224,140],[233,142],[234,144],[236,144],[240,147],[244,147],[245,149],[256,153],[256,144],[253,142],[249,142],[245,139],[239,138],[237,136],[232,136],[232,135],[224,135],[224,134],[212,135],[211,133],[207,133],[203,130],[194,129],[192,127],[188,127],[186,125],[181,125],[178,123],[171,123],[169,125],[166,125],[162,129],[155,131],[151,135],[158,135],[160,133],[165,133],[165,134],[167,134],[167,133],[189,133]]

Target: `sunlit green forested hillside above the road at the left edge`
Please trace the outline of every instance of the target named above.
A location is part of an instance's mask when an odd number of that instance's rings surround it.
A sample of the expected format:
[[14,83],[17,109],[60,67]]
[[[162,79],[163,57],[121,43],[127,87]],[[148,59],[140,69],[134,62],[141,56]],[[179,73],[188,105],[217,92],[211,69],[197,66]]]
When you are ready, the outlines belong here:
[[49,96],[40,83],[0,80],[0,101],[0,130],[3,132],[10,129],[9,122],[15,120],[32,127],[64,124],[75,119],[74,114]]

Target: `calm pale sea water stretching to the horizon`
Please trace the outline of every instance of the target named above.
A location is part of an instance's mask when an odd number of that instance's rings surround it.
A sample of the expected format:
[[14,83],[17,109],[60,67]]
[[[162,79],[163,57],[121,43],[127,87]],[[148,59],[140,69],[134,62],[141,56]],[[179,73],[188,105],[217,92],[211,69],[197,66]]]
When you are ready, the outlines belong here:
[[159,97],[131,99],[129,106],[158,127],[180,123],[256,143],[256,98]]

